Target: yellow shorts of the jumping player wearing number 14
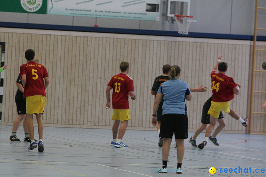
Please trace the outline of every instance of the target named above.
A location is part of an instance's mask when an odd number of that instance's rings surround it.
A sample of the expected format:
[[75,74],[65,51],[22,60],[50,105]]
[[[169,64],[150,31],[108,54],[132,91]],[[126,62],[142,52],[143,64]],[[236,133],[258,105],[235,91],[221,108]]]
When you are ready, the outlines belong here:
[[230,101],[227,102],[213,102],[211,101],[211,107],[208,114],[218,119],[220,112],[225,111],[225,113],[230,113]]

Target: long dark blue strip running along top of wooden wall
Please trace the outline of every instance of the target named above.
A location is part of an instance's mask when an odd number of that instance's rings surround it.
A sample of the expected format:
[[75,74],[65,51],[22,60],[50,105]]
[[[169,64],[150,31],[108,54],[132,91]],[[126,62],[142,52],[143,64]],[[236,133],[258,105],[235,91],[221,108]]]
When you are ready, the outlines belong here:
[[[0,22],[0,27],[27,28],[27,29],[47,29],[47,30],[62,30],[62,31],[81,31],[81,32],[99,32],[99,33],[119,33],[119,34],[140,34],[140,35],[173,36],[173,37],[235,39],[235,40],[250,40],[250,41],[253,41],[253,36],[251,36],[251,35],[239,35],[239,34],[218,34],[218,33],[194,33],[194,32],[189,32],[188,35],[182,35],[182,34],[178,34],[177,31],[159,31],[159,30],[145,30],[145,29],[122,29],[122,28],[101,28],[101,27],[82,27],[82,26],[68,26],[68,25],[48,25],[48,24],[11,23],[11,22]],[[257,41],[266,41],[266,36],[257,36]]]

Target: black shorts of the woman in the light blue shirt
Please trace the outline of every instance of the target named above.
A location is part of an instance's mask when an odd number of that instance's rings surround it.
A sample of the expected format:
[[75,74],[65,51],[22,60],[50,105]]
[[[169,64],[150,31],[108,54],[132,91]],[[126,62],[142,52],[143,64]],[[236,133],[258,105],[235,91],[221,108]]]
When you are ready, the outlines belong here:
[[188,116],[184,114],[164,114],[161,120],[160,137],[186,139],[188,138]]

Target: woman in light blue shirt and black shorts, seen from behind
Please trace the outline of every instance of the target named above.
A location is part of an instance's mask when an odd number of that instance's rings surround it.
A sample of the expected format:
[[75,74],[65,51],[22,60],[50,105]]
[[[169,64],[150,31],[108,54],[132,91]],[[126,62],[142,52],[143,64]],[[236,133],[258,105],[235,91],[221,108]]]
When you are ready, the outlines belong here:
[[[164,139],[162,154],[163,166],[158,171],[167,173],[167,161],[170,145],[175,133],[177,146],[177,174],[182,174],[182,160],[185,153],[184,139],[188,138],[188,117],[185,114],[185,99],[190,101],[192,94],[188,84],[179,80],[180,67],[172,66],[170,70],[171,80],[164,82],[158,89],[153,105],[152,125],[156,126],[156,113],[161,99],[163,103],[163,116],[161,119],[160,137]],[[169,170],[168,170],[169,171]]]

